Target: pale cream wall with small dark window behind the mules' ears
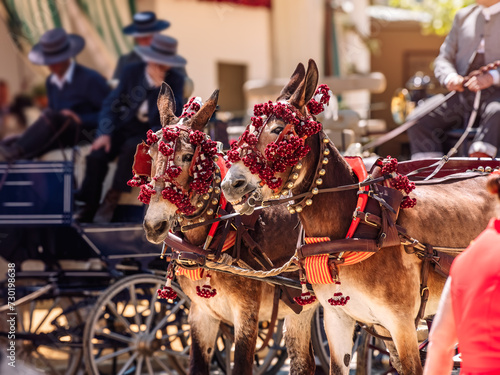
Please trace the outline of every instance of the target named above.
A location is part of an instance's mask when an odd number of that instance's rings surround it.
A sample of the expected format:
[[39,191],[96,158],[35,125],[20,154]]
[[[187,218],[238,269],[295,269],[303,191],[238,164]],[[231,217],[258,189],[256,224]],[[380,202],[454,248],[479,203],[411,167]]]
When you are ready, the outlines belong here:
[[[139,1],[141,10],[143,4]],[[165,34],[178,39],[194,95],[206,99],[217,87],[217,63],[245,64],[248,79],[271,74],[267,8],[194,0],[156,1],[156,14],[171,22]],[[221,92],[220,95],[227,95]]]

